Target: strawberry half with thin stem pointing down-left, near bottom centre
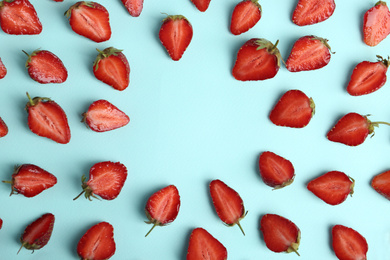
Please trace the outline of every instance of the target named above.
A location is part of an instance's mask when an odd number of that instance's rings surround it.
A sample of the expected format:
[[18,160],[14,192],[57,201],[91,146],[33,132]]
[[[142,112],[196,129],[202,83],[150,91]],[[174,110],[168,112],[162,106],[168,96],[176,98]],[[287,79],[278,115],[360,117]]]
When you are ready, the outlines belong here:
[[145,214],[149,219],[145,223],[153,224],[153,227],[146,233],[145,237],[156,226],[165,226],[173,222],[179,214],[179,209],[180,195],[176,186],[169,185],[152,194],[145,206]]

